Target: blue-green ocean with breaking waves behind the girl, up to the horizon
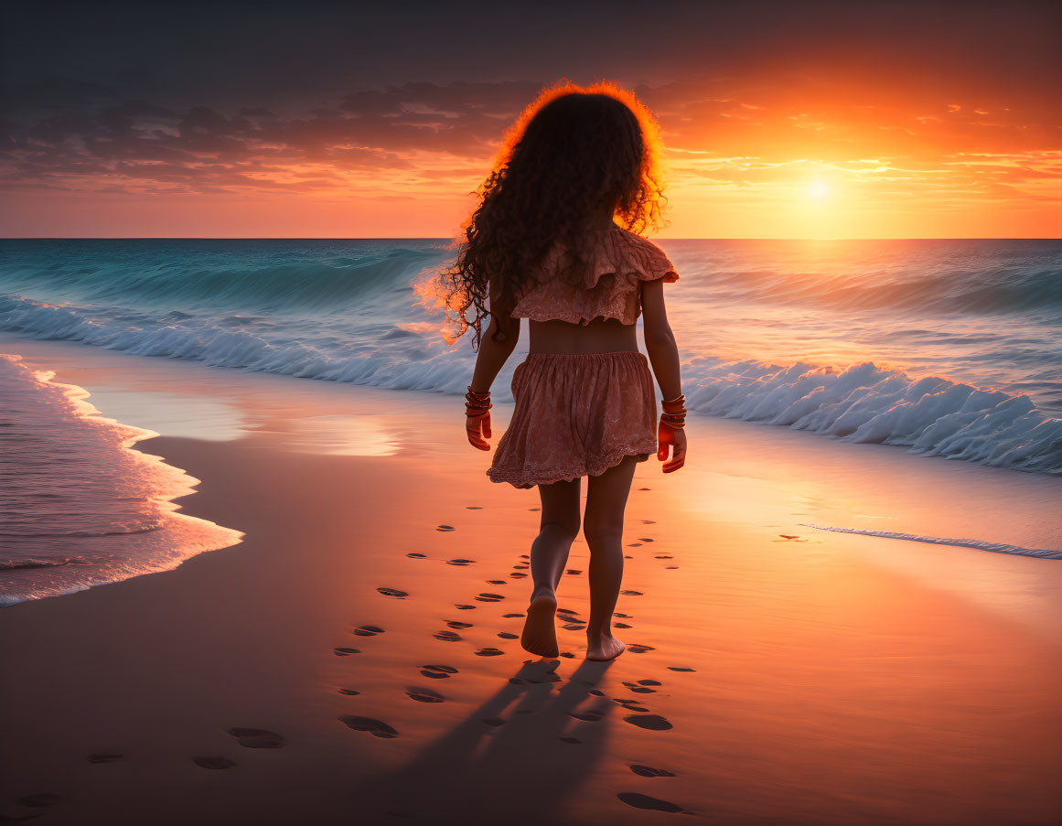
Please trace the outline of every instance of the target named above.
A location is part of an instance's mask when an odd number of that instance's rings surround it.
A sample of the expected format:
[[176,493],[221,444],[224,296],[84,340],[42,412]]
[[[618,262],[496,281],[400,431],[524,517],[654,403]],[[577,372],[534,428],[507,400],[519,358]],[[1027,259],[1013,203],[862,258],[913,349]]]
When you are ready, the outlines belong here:
[[[660,245],[699,414],[1062,472],[1062,241]],[[414,282],[439,240],[0,241],[0,330],[220,367],[463,393]],[[509,396],[517,354],[495,384]]]

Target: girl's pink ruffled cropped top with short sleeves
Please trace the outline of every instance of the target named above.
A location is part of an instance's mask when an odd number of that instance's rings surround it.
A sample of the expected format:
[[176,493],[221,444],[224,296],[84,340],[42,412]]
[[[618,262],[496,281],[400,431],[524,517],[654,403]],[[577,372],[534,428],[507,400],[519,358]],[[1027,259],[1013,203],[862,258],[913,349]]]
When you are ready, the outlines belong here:
[[573,324],[588,324],[603,316],[634,324],[641,314],[643,281],[679,280],[674,265],[658,246],[618,226],[594,230],[582,285],[554,276],[560,257],[560,249],[546,257],[541,272],[535,274],[539,283],[516,303],[513,316]]

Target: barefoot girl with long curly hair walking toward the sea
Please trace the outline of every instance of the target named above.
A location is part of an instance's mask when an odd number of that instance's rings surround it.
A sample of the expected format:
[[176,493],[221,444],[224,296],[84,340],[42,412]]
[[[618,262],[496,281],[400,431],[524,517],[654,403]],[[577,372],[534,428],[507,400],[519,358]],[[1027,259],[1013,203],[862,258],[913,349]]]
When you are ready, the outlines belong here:
[[[658,225],[658,160],[655,123],[634,96],[612,84],[546,90],[508,136],[446,273],[458,335],[472,326],[479,348],[465,408],[468,441],[481,450],[491,447],[491,384],[516,346],[520,319],[529,320],[528,357],[512,379],[516,408],[486,472],[538,487],[534,590],[520,642],[541,656],[558,655],[555,592],[579,533],[581,478],[590,551],[586,657],[612,659],[623,651],[612,614],[634,466],[653,452],[664,472],[685,461],[679,352],[664,310],[664,282],[679,276],[639,235]],[[635,337],[639,313],[663,394],[658,424]]]

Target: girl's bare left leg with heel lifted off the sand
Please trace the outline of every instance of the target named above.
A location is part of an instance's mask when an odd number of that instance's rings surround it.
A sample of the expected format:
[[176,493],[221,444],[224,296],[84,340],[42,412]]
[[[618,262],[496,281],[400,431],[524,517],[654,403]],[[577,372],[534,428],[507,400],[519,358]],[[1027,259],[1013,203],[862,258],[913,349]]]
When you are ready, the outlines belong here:
[[542,522],[531,545],[531,579],[534,590],[524,621],[520,644],[532,654],[555,657],[556,588],[568,562],[571,543],[579,535],[579,479],[538,485]]

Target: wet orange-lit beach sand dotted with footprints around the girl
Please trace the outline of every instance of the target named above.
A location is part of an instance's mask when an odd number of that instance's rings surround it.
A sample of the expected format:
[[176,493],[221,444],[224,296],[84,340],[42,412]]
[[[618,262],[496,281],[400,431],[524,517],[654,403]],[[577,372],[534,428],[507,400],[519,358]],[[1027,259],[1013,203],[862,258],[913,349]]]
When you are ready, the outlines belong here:
[[1062,563],[805,527],[1058,549],[1062,480],[695,419],[686,468],[635,476],[627,653],[582,658],[579,539],[536,662],[537,495],[486,479],[459,398],[0,344],[161,432],[137,448],[202,480],[184,513],[246,534],[0,610],[0,815],[1062,818]]

